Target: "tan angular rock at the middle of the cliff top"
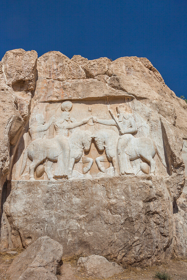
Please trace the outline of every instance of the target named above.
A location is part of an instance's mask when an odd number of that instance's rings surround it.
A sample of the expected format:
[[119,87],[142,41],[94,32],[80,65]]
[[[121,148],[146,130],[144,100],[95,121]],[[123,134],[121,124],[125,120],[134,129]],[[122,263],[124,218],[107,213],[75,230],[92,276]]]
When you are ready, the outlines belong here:
[[108,74],[108,65],[111,61],[107,57],[89,60],[86,64],[81,64],[81,68],[86,73],[86,78],[95,78],[98,75]]

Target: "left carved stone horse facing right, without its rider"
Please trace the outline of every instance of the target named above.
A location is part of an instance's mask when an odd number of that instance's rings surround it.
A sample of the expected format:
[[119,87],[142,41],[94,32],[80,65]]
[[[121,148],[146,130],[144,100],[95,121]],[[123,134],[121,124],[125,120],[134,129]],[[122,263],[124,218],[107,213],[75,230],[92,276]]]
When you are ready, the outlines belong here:
[[[64,137],[57,137],[53,139],[37,139],[32,141],[28,148],[24,152],[24,157],[22,161],[22,166],[20,169],[20,175],[23,173],[27,156],[32,161],[29,166],[29,176],[30,179],[34,180],[34,172],[38,165],[43,164],[46,160],[48,160],[47,164],[47,176],[49,179],[53,179],[54,176],[51,173],[51,166],[53,162],[58,162],[59,156],[60,158],[65,158],[66,149],[70,147],[70,160],[67,163],[69,166],[68,171],[68,179],[72,178],[72,170],[75,162],[79,161],[83,156],[83,151],[89,151],[92,143],[92,134],[88,131],[78,130],[70,136],[69,139],[66,138],[64,141]],[[83,172],[86,173],[90,170],[93,159],[88,157],[83,157],[83,162],[88,162],[88,166],[84,168]]]

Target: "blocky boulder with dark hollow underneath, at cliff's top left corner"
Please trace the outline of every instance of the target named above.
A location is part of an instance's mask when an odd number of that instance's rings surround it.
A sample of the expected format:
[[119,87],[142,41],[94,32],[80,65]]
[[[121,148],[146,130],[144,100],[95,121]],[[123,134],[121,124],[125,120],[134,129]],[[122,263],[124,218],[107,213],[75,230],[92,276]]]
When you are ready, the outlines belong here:
[[37,52],[23,49],[5,53],[2,62],[7,85],[15,91],[34,90],[36,84]]

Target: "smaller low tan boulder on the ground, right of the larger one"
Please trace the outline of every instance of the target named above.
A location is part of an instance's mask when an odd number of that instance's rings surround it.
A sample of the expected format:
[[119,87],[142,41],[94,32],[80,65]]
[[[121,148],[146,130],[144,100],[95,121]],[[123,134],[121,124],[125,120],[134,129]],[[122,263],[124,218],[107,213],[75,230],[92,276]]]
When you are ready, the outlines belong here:
[[85,270],[88,277],[107,278],[114,274],[122,273],[123,269],[115,262],[109,262],[106,258],[99,255],[80,257],[77,266]]

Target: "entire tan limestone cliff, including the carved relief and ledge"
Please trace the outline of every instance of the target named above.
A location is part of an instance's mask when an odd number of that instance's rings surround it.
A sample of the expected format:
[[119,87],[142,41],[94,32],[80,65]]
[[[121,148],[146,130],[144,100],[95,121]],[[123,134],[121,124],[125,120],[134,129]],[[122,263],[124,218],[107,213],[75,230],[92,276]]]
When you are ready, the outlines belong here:
[[50,236],[65,255],[186,256],[187,104],[148,59],[12,50],[0,92],[0,248]]

